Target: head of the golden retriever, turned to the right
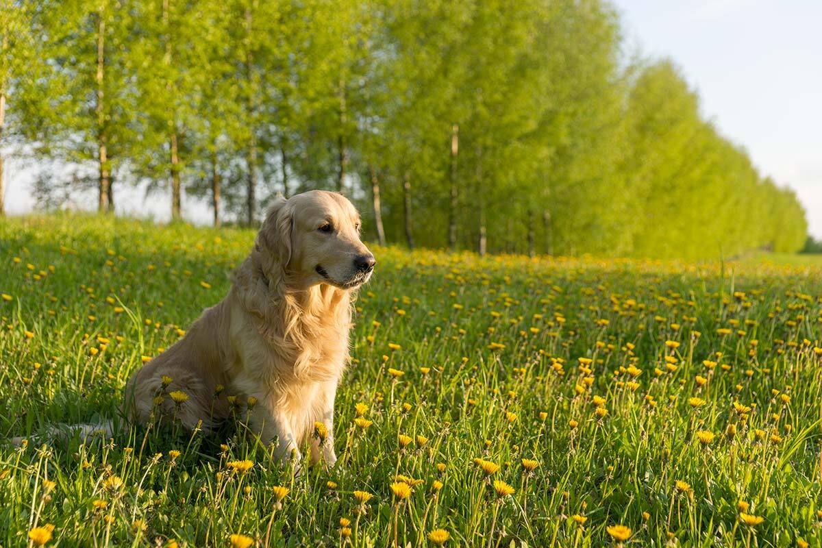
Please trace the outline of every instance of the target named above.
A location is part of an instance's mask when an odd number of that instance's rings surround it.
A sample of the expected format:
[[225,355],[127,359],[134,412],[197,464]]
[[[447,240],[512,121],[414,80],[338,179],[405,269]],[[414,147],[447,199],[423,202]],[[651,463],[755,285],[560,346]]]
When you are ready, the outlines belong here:
[[328,283],[356,288],[371,278],[376,260],[360,241],[360,218],[341,194],[309,191],[280,198],[263,222],[264,246],[290,284],[309,288]]

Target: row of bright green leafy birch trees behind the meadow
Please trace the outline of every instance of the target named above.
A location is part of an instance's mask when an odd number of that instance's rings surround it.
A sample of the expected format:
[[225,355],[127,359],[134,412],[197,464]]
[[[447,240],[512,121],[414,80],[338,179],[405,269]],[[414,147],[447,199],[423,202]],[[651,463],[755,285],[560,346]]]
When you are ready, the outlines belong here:
[[626,62],[601,0],[0,5],[0,143],[74,166],[39,191],[93,185],[101,211],[149,182],[175,218],[196,196],[215,223],[254,223],[275,193],[327,188],[409,246],[700,258],[805,242],[797,197],[702,117],[671,62]]

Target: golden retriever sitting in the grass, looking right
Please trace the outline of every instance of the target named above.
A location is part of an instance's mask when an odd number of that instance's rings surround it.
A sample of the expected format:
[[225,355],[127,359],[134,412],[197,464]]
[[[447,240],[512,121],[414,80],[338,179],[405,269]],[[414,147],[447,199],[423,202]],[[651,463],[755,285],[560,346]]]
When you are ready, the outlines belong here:
[[[128,380],[122,415],[207,433],[239,412],[275,458],[299,463],[309,442],[312,464],[334,466],[334,400],[349,361],[353,302],[376,265],[359,230],[341,194],[279,198],[228,295]],[[110,435],[111,423],[68,429]],[[312,435],[317,429],[321,436]]]

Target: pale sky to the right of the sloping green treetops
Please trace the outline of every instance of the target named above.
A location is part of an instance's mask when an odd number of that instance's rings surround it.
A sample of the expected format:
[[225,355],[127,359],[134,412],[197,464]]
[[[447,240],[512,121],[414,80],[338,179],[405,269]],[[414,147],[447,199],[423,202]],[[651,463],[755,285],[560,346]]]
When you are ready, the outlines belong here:
[[626,46],[677,63],[703,113],[792,187],[822,237],[822,0],[614,0]]

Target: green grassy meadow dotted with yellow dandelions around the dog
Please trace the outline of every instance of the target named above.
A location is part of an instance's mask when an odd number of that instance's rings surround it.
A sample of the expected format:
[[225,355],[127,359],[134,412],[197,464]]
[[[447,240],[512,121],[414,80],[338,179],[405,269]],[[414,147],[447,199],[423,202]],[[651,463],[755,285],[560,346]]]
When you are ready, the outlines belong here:
[[[113,417],[252,237],[0,221],[0,439]],[[373,251],[335,468],[242,424],[4,446],[0,546],[820,546],[822,266]]]

